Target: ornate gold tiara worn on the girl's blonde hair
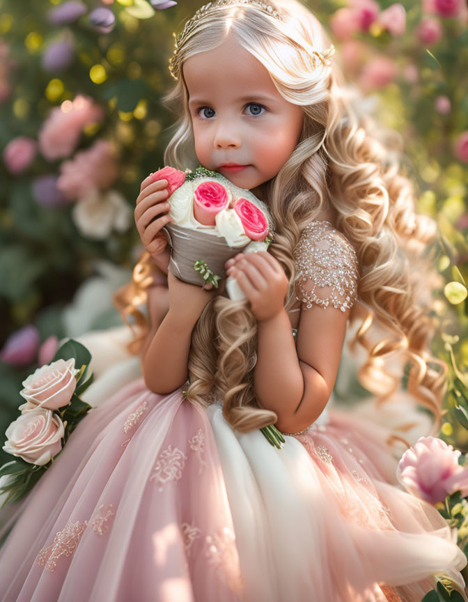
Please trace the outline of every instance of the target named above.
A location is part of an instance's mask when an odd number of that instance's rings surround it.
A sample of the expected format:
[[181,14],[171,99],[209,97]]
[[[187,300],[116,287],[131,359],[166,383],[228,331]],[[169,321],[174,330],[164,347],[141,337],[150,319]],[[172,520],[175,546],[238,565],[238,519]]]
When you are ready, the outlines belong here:
[[[192,19],[187,21],[182,33],[179,33],[178,36],[176,36],[176,33],[172,34],[175,41],[174,41],[174,52],[173,52],[173,55],[171,56],[171,59],[169,59],[169,72],[171,73],[171,75],[174,79],[178,79],[178,71],[179,71],[179,67],[180,67],[180,65],[179,65],[180,61],[178,59],[179,50],[185,44],[186,40],[190,36],[192,36],[192,33],[193,33],[194,29],[196,29],[198,22],[209,11],[215,10],[219,6],[228,6],[230,4],[237,5],[237,6],[242,5],[242,4],[250,4],[252,6],[256,6],[257,8],[260,8],[260,10],[265,11],[265,13],[267,13],[268,15],[271,15],[275,19],[279,19],[280,21],[283,21],[283,17],[279,13],[279,11],[276,8],[273,8],[272,6],[270,6],[270,4],[265,4],[265,2],[263,2],[262,0],[216,0],[214,2],[208,2],[208,4],[205,4],[201,8],[198,8],[196,13],[192,17]],[[330,59],[331,59],[331,56],[334,55],[334,52],[335,52],[334,45],[331,45],[329,48],[325,49],[323,52],[320,52],[318,50],[314,50],[313,52],[311,52],[313,68],[315,69],[318,62],[320,62],[322,65],[328,67],[331,64]]]

